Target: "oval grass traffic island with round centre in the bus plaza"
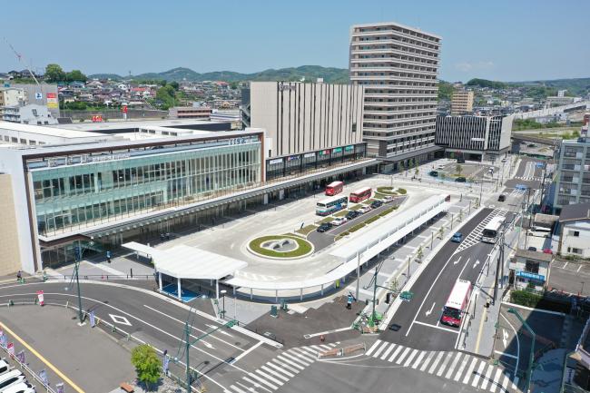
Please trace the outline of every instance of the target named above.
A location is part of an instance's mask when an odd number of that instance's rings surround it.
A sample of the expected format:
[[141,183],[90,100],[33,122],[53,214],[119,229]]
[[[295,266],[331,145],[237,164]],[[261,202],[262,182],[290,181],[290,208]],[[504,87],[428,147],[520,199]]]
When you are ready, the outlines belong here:
[[291,234],[261,236],[248,243],[252,254],[278,260],[304,258],[313,250],[310,241]]

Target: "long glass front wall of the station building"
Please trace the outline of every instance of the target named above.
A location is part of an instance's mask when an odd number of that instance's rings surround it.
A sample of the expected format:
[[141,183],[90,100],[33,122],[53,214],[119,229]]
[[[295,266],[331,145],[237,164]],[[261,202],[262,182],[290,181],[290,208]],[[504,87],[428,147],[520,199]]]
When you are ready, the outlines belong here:
[[92,162],[68,158],[61,166],[31,170],[39,234],[121,220],[261,182],[260,142],[220,144]]

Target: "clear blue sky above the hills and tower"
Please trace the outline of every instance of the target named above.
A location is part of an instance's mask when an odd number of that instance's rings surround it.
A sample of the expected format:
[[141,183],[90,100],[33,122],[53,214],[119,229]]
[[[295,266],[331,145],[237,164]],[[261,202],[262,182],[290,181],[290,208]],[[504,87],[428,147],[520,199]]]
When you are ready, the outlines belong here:
[[446,81],[590,77],[588,0],[22,0],[0,14],[4,72],[348,68],[350,26],[392,21],[442,36]]

